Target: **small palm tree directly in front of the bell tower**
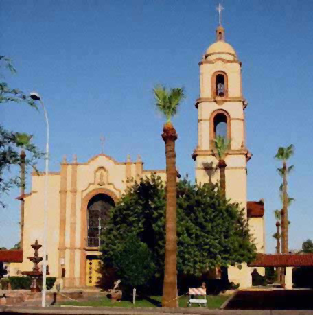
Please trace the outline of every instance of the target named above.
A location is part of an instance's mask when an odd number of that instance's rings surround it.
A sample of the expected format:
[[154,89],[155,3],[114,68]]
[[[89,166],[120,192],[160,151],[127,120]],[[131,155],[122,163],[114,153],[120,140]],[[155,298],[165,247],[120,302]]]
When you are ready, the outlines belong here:
[[220,188],[222,189],[222,196],[226,196],[226,177],[225,168],[227,164],[225,163],[225,157],[227,156],[227,151],[231,145],[231,139],[226,139],[220,135],[216,136],[214,139],[214,144],[216,147],[216,154],[218,158],[218,168],[220,170]]

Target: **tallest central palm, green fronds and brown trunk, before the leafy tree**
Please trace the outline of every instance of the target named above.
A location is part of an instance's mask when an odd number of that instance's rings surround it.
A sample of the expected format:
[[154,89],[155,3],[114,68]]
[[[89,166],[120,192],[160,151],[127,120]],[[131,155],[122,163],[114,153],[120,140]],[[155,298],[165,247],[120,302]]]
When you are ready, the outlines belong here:
[[165,212],[165,261],[163,284],[163,307],[178,307],[177,299],[177,235],[176,235],[176,130],[171,122],[172,116],[184,99],[184,89],[154,88],[156,107],[166,117],[162,138],[165,142],[166,156],[166,212]]

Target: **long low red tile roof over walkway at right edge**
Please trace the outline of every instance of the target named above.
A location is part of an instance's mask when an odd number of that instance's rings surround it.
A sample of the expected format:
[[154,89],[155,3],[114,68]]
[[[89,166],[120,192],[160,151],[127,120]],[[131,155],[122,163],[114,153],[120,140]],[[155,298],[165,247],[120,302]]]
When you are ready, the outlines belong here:
[[249,267],[313,267],[313,254],[257,254]]

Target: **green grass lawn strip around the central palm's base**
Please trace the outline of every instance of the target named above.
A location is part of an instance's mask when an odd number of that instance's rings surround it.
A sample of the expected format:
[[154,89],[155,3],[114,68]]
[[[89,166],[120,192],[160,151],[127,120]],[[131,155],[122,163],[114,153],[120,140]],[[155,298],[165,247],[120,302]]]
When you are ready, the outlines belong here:
[[[219,308],[224,301],[229,298],[229,295],[207,296],[207,308],[214,309]],[[93,306],[93,307],[160,307],[161,296],[149,296],[146,299],[137,299],[136,304],[133,305],[130,301],[121,301],[112,303],[110,299],[102,297],[99,299],[93,299],[89,301],[64,301],[58,303],[58,305],[74,305],[74,306]],[[187,296],[182,296],[179,300],[179,307],[187,307]],[[193,304],[192,307],[199,307]]]

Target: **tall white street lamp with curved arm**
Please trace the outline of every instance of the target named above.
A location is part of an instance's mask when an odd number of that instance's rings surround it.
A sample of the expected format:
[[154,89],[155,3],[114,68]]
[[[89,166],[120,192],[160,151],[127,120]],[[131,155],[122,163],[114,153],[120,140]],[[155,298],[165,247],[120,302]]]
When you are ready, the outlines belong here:
[[47,292],[47,207],[48,207],[48,172],[49,172],[49,120],[47,110],[41,97],[38,93],[30,93],[32,100],[38,100],[43,106],[43,112],[45,113],[45,122],[47,126],[47,141],[46,141],[46,154],[45,154],[45,195],[43,204],[43,291],[41,306],[45,307],[46,304],[46,292]]

